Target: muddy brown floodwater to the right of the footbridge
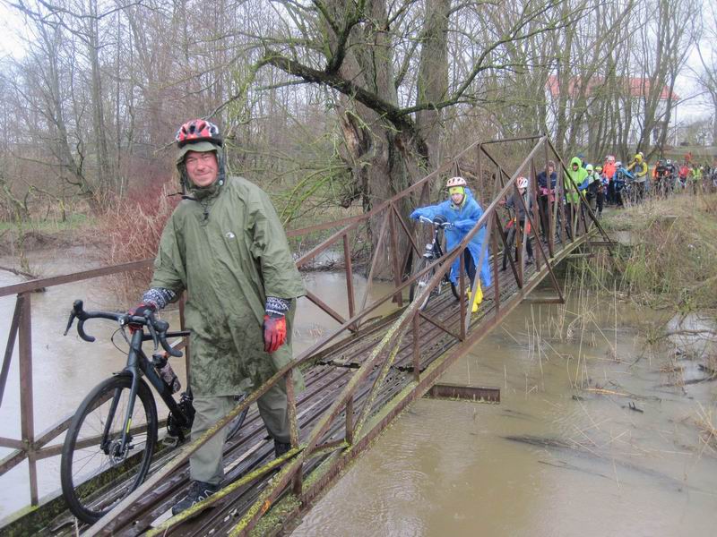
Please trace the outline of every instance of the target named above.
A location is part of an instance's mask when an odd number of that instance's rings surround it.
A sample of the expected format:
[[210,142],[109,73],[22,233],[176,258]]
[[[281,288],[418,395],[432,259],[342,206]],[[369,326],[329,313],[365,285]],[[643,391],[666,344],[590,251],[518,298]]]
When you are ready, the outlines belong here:
[[549,337],[557,308],[519,307],[442,379],[500,387],[501,404],[419,400],[292,537],[717,534],[717,457],[695,425],[717,382],[662,386],[676,379],[645,320],[618,305],[616,331],[595,306],[582,342]]

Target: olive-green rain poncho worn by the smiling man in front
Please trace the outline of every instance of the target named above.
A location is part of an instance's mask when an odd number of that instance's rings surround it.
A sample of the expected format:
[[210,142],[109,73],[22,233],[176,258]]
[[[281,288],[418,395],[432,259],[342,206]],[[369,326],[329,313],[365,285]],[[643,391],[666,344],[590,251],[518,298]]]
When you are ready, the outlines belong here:
[[[181,170],[180,170],[181,172]],[[296,300],[287,342],[263,350],[266,296],[305,294],[286,234],[269,196],[241,177],[190,188],[162,232],[152,287],[187,291],[191,386],[195,396],[258,388],[292,359]],[[296,371],[297,389],[303,380]]]

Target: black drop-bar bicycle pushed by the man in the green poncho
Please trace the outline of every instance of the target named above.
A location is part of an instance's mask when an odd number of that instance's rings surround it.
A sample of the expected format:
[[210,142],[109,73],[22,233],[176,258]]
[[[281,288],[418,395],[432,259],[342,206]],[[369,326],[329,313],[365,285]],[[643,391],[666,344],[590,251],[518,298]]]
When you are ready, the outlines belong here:
[[[125,369],[100,382],[85,396],[70,422],[62,448],[60,481],[65,501],[74,516],[93,524],[139,487],[150,470],[159,422],[157,405],[143,376],[169,409],[168,438],[175,439],[176,446],[188,436],[194,421],[191,390],[181,394],[177,403],[173,388],[162,379],[159,370],[166,365],[168,356],[182,356],[181,351],[169,345],[168,338],[186,337],[189,332],[168,332],[168,322],[157,319],[154,313],[145,317],[84,311],[82,301],[77,300],[65,336],[75,319],[84,341],[95,341],[84,331],[84,322],[106,319],[119,323],[129,343]],[[126,335],[127,328],[130,337]],[[151,358],[143,352],[145,341],[154,345]],[[138,397],[141,405],[136,405]],[[235,397],[238,403],[243,398],[243,394]],[[246,410],[229,423],[227,439],[237,434],[245,418]]]

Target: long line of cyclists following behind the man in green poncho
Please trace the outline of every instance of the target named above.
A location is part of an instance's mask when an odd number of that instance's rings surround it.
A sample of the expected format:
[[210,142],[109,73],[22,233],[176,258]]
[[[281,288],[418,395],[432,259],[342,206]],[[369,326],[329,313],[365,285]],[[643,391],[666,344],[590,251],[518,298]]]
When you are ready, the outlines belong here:
[[[687,155],[685,161],[678,163],[669,158],[661,158],[657,165],[649,166],[642,151],[635,153],[635,156],[626,164],[617,160],[614,155],[608,155],[602,164],[593,165],[578,154],[570,160],[570,164],[563,175],[564,189],[562,192],[563,210],[557,212],[557,226],[565,226],[568,235],[573,233],[575,217],[578,211],[583,211],[581,198],[592,209],[592,213],[600,218],[606,205],[622,208],[626,203],[639,203],[646,196],[666,197],[673,192],[699,192],[705,190],[717,190],[717,166],[700,166],[691,162]],[[533,209],[533,200],[537,200],[538,213],[540,217],[540,232],[547,240],[549,235],[549,208],[554,207],[558,200],[557,189],[557,166],[554,161],[549,160],[545,169],[536,176],[537,189],[536,197],[529,195],[530,180],[520,176],[515,181],[516,191],[506,196],[500,204],[505,208],[512,209],[511,217],[508,218],[505,226],[505,236],[508,248],[503,254],[502,269],[506,268],[506,261],[509,255],[518,258],[517,250],[520,249],[520,240],[516,240],[516,230],[523,230],[528,226],[526,235],[526,264],[533,262],[533,251],[531,245],[530,220],[526,218],[526,209]],[[428,207],[414,210],[410,217],[433,219],[440,217],[445,219],[447,227],[445,231],[446,246],[448,250],[460,243],[466,234],[478,223],[483,215],[483,209],[473,197],[468,183],[463,177],[451,177],[445,185],[449,199]],[[523,201],[519,200],[523,197]],[[473,281],[476,277],[477,267],[479,269],[479,284],[490,286],[491,274],[488,267],[488,248],[482,255],[483,243],[486,240],[486,227],[482,226],[478,233],[474,234],[468,244],[463,257],[465,269]],[[559,240],[559,239],[557,239]],[[515,251],[513,249],[515,248]],[[460,260],[454,261],[450,273],[450,279],[455,284],[459,273]],[[480,285],[478,292],[471,303],[472,311],[478,310],[478,304],[482,300]]]

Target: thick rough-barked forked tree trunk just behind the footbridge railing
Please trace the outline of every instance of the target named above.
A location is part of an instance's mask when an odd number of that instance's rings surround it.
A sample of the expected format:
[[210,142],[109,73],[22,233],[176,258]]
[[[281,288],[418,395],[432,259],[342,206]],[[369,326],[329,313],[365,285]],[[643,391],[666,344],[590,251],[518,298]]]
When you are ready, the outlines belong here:
[[[343,3],[336,1],[334,10]],[[421,55],[417,81],[416,103],[438,102],[447,90],[447,25],[450,0],[426,0],[425,24],[421,32]],[[338,13],[338,12],[337,12]],[[388,29],[384,0],[367,5],[370,23],[351,30],[347,54],[339,68],[344,80],[350,80],[374,94],[384,103],[399,107],[396,87],[398,78],[393,68],[393,35]],[[350,164],[355,197],[360,197],[365,211],[376,208],[410,184],[431,172],[438,164],[441,114],[436,110],[419,113],[414,118],[386,118],[374,108],[343,96],[339,116],[346,142],[344,158]],[[421,195],[421,193],[423,195]],[[427,192],[400,200],[398,212],[407,219],[410,212],[428,201]],[[384,230],[384,247],[379,249],[385,212],[369,222],[371,251],[379,256],[375,277],[393,277],[392,226]],[[410,264],[410,240],[398,223],[394,226],[398,249],[395,252],[401,270]]]

